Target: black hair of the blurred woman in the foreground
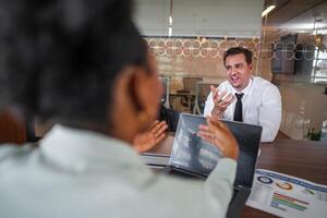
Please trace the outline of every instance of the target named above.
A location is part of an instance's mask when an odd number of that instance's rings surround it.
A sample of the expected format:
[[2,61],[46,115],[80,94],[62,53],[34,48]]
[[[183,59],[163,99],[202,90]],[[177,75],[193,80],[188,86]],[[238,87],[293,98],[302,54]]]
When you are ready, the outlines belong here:
[[0,101],[44,120],[105,123],[119,72],[147,64],[131,16],[130,0],[1,1]]

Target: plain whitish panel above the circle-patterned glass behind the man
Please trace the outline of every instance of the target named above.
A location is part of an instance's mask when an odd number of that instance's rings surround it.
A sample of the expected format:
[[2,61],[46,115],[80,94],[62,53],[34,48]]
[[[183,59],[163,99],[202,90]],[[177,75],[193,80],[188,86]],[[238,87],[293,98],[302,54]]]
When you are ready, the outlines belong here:
[[[173,0],[172,36],[259,37],[262,0]],[[170,0],[136,0],[135,22],[145,36],[168,36]]]

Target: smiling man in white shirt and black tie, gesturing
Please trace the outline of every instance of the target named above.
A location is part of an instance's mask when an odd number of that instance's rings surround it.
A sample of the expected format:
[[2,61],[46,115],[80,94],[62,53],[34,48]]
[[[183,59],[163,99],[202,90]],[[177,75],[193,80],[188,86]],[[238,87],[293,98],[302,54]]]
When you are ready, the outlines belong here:
[[262,142],[272,142],[281,121],[279,89],[270,82],[253,76],[252,51],[233,47],[223,55],[227,81],[211,86],[204,116],[235,120],[263,126]]

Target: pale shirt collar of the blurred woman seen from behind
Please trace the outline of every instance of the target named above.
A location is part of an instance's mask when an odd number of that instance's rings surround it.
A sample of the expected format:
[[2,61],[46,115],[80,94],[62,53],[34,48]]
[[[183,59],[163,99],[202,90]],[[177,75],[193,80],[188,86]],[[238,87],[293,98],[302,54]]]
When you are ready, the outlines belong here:
[[85,171],[119,166],[147,170],[131,145],[89,130],[57,124],[40,142],[40,148],[48,160],[65,169]]

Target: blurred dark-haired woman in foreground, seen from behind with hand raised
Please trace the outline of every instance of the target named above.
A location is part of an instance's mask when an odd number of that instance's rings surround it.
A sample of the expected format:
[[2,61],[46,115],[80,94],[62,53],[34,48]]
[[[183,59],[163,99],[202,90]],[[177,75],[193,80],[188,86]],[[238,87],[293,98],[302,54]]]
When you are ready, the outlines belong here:
[[38,147],[0,147],[0,217],[225,216],[238,145],[223,124],[201,128],[226,157],[205,182],[155,174],[132,145],[162,88],[130,1],[3,0],[0,21],[2,106],[57,123]]

